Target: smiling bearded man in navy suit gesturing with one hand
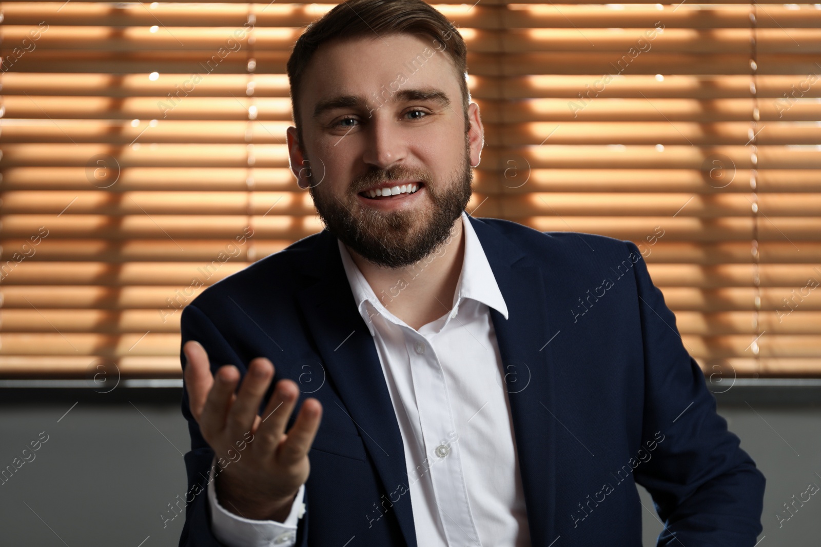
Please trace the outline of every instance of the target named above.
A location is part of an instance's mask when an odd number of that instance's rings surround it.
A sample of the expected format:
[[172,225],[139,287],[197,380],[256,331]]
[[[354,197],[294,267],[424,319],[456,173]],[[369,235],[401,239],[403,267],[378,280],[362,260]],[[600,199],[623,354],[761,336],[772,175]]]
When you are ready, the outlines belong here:
[[297,41],[291,171],[326,229],[182,314],[180,545],[641,545],[639,483],[659,545],[752,547],[764,476],[640,249],[466,214],[465,59],[421,0]]

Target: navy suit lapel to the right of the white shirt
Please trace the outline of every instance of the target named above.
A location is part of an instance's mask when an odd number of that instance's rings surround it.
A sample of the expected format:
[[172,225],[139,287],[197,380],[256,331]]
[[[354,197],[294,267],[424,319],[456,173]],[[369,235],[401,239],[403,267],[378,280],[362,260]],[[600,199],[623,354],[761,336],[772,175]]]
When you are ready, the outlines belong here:
[[[556,328],[548,310],[544,272],[515,241],[469,217],[507,305],[507,319],[490,308],[507,385],[532,545],[551,545],[555,533],[553,354]],[[555,322],[555,321],[553,321]],[[549,412],[548,412],[549,409]]]

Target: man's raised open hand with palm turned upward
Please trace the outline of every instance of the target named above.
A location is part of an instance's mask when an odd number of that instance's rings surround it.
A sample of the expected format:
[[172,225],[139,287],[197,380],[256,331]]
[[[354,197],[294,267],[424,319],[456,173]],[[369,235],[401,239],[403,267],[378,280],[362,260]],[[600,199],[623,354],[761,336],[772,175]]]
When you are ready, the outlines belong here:
[[267,358],[250,362],[235,393],[240,380],[236,367],[223,365],[212,376],[208,353],[199,342],[189,340],[183,352],[191,414],[218,461],[224,458],[228,463],[215,471],[220,505],[252,520],[284,521],[300,485],[308,480],[308,451],[322,418],[322,404],[305,399],[286,434],[299,388],[291,380],[277,381],[260,417],[257,411],[274,373]]

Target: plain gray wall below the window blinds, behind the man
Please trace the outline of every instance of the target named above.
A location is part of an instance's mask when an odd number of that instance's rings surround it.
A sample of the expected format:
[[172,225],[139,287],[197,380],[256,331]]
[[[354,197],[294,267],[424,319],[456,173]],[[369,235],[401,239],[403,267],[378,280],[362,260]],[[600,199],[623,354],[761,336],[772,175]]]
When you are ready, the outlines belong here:
[[[0,545],[177,545],[184,515],[166,523],[162,515],[173,514],[168,504],[186,492],[179,390],[78,393],[0,390],[0,468],[48,435],[34,460],[0,485]],[[724,399],[719,413],[767,477],[759,545],[818,545],[821,496],[780,527],[775,515],[810,482],[821,485],[821,407],[813,397],[768,400],[741,390]],[[640,490],[649,547],[662,525]]]

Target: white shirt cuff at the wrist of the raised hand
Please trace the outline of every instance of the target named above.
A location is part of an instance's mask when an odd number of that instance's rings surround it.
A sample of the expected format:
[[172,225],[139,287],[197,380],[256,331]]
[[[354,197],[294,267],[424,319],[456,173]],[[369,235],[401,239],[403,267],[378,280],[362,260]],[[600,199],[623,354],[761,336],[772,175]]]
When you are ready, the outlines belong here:
[[208,499],[211,506],[211,531],[213,535],[228,547],[291,547],[296,545],[296,525],[305,513],[303,503],[305,485],[296,493],[291,513],[284,522],[255,521],[229,513],[217,501],[217,492],[213,485],[213,470],[217,458],[214,457],[209,471]]

